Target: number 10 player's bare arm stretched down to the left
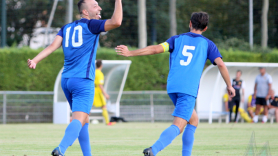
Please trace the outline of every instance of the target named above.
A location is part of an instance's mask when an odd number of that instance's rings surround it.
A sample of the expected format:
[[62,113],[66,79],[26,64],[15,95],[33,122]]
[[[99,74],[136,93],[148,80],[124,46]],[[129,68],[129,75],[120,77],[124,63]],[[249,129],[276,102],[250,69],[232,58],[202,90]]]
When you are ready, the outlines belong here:
[[41,60],[43,60],[43,58],[47,57],[48,55],[50,55],[52,52],[54,52],[56,49],[58,49],[58,47],[61,47],[63,42],[63,37],[61,36],[56,36],[54,38],[54,41],[51,43],[51,45],[49,45],[48,47],[46,47],[45,49],[43,49],[43,51],[41,51],[36,57],[34,57],[32,60],[28,59],[27,63],[28,63],[28,67],[30,69],[35,69],[36,68],[36,64],[39,63]]

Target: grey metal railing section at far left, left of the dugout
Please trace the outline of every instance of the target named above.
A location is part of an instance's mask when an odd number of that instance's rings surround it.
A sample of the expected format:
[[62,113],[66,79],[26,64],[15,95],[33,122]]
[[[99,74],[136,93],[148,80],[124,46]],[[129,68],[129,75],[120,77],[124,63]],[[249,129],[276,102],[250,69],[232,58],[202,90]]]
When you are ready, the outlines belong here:
[[52,122],[53,91],[0,91],[0,122]]

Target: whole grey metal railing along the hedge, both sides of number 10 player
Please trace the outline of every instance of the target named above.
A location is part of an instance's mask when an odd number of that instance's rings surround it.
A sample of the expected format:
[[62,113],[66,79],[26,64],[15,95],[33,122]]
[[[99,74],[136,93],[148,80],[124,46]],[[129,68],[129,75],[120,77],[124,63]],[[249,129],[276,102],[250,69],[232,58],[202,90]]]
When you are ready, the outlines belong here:
[[[0,91],[0,123],[53,121],[52,91]],[[171,122],[167,91],[124,91],[120,116],[129,122]]]

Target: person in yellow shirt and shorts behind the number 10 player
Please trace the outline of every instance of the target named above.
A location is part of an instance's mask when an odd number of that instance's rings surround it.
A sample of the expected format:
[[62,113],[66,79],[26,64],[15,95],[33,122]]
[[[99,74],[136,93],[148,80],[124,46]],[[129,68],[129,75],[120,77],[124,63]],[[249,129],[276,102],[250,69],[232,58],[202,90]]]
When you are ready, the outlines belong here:
[[96,75],[94,80],[94,107],[102,107],[103,109],[103,117],[105,118],[105,123],[109,126],[113,125],[114,122],[109,122],[109,115],[106,108],[106,100],[109,100],[109,95],[106,93],[105,89],[103,88],[104,84],[104,75],[101,72],[103,69],[103,63],[101,60],[96,60]]

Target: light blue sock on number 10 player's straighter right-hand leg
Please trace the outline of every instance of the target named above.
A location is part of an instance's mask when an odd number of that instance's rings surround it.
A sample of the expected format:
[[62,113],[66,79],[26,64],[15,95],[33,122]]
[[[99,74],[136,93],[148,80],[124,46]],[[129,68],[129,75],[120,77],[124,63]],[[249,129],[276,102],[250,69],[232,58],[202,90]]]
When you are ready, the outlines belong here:
[[79,133],[79,144],[81,146],[83,156],[92,156],[91,154],[91,145],[89,144],[89,130],[88,130],[89,123],[86,123],[80,133]]

